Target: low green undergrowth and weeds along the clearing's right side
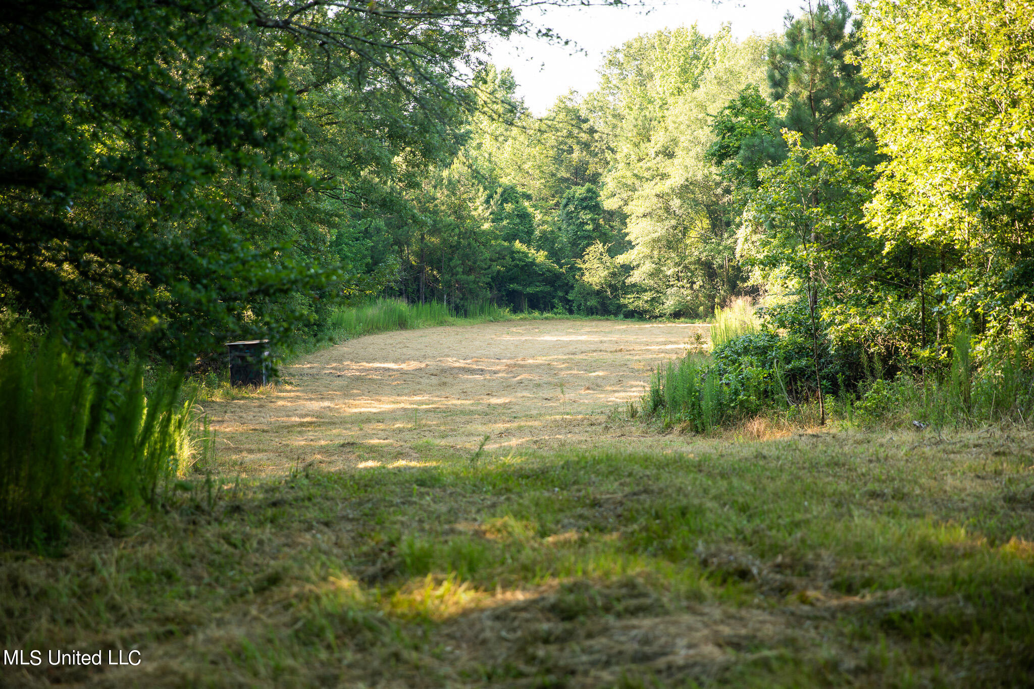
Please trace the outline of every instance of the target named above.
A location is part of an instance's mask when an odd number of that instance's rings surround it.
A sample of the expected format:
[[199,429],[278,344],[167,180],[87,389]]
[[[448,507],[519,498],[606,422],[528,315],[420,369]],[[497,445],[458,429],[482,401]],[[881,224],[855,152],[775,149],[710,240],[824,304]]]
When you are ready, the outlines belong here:
[[[747,323],[747,324],[744,324]],[[759,414],[803,419],[817,405],[810,345],[793,336],[757,330],[741,316],[720,315],[710,355],[688,351],[658,365],[639,411],[647,420],[697,433],[740,424]],[[738,335],[735,335],[738,333]],[[902,371],[884,379],[878,369],[846,380],[835,356],[822,359],[825,415],[841,426],[972,428],[1034,420],[1034,368],[1018,348],[987,351],[976,361],[961,332],[939,369]]]

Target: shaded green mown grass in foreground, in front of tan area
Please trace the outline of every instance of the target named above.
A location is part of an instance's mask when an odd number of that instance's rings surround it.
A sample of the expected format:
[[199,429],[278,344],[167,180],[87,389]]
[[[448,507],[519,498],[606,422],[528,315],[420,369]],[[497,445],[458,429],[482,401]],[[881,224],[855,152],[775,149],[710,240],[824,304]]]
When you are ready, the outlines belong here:
[[0,564],[6,649],[144,663],[4,681],[1029,686],[1031,446],[829,433],[195,477],[130,533]]

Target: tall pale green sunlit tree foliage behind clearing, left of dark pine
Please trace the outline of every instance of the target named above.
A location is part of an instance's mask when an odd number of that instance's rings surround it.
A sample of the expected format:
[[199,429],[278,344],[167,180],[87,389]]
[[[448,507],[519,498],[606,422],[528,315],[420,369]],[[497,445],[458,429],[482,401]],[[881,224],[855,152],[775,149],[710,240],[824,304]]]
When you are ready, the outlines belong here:
[[[662,54],[669,43],[677,49]],[[746,85],[764,82],[767,44],[695,27],[660,32],[615,51],[614,73],[586,99],[598,126],[620,133],[604,196],[628,218],[626,303],[642,313],[706,317],[743,286],[729,194],[706,159],[709,121]]]

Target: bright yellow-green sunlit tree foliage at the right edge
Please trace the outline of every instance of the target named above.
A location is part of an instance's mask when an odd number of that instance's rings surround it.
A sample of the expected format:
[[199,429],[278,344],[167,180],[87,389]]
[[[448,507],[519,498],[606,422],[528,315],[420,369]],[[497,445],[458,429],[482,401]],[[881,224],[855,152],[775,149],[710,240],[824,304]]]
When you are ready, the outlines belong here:
[[[860,114],[889,159],[865,209],[888,249],[915,247],[937,340],[1034,338],[1034,5],[866,2]],[[934,325],[934,323],[932,323]],[[934,330],[933,327],[931,330]]]

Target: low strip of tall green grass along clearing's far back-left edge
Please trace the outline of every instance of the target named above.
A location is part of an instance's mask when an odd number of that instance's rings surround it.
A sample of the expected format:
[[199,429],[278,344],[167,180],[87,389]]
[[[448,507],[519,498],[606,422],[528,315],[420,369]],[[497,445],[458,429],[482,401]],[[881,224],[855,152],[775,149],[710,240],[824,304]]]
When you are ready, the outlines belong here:
[[507,309],[490,302],[479,302],[453,310],[440,302],[406,304],[401,300],[378,299],[368,304],[338,309],[329,321],[333,336],[356,338],[372,333],[448,325],[470,320],[485,322],[509,317]]

